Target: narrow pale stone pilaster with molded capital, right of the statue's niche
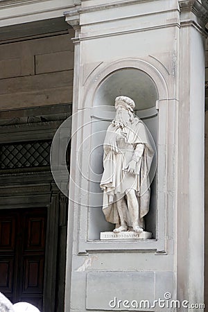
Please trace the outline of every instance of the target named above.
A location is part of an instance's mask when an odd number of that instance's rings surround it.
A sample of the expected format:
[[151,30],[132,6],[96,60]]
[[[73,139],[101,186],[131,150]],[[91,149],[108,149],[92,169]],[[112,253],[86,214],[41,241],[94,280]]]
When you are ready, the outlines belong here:
[[[205,24],[207,1],[179,1],[177,298],[204,302]],[[195,309],[190,309],[195,311]],[[198,311],[202,311],[198,310]]]

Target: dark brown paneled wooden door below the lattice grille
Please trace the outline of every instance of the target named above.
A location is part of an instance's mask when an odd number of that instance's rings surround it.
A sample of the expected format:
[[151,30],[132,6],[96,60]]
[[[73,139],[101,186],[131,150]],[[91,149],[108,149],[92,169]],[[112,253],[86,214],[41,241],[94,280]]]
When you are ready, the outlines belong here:
[[0,210],[0,291],[42,310],[46,209]]

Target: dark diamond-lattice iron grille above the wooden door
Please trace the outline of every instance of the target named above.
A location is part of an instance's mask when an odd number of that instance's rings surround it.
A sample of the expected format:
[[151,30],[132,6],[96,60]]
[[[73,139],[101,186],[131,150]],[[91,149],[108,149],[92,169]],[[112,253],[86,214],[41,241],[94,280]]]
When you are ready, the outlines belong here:
[[0,144],[0,169],[50,166],[51,141]]

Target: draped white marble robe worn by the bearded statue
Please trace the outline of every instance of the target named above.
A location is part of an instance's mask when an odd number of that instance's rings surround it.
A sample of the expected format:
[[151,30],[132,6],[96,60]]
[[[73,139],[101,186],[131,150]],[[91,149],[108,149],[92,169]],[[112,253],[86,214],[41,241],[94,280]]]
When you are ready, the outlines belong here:
[[[125,133],[126,139],[118,144],[116,137]],[[142,155],[138,157],[138,147],[142,148]],[[153,160],[154,151],[150,145],[148,134],[144,123],[135,118],[132,123],[128,123],[125,128],[115,126],[112,123],[107,128],[105,141],[103,144],[103,177],[101,179],[101,189],[103,189],[103,213],[107,222],[120,225],[116,200],[123,198],[128,189],[135,189],[139,203],[139,224],[142,218],[148,213],[150,202],[150,180],[149,172]],[[115,153],[116,150],[116,153]],[[140,148],[141,150],[141,148]],[[131,159],[137,159],[135,174],[125,171]],[[127,206],[126,206],[127,209]],[[126,220],[128,226],[130,218]]]

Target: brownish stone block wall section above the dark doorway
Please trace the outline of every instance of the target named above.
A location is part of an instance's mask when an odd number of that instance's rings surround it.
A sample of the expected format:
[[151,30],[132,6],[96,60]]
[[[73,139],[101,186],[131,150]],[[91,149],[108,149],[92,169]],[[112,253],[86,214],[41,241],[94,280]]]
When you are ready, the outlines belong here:
[[1,44],[0,110],[72,102],[73,31]]

